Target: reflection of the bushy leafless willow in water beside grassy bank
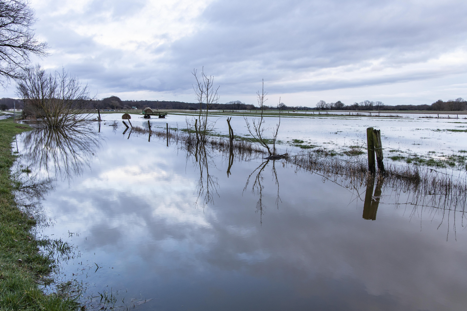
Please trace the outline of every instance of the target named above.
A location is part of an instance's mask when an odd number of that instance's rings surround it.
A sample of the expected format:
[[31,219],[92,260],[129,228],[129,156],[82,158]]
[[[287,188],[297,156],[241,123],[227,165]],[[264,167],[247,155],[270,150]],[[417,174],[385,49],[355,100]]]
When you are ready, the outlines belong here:
[[100,147],[99,133],[91,128],[38,128],[21,136],[21,157],[15,161],[12,176],[15,199],[36,221],[42,222],[41,201],[54,190],[57,179],[70,180]]

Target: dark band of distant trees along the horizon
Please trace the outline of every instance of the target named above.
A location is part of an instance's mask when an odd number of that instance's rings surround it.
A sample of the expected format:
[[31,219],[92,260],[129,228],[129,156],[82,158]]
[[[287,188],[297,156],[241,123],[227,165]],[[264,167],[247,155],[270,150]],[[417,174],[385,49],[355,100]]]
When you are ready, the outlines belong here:
[[[17,109],[23,108],[23,101],[21,99],[14,98],[1,98],[0,99],[0,110],[13,109],[13,104],[16,103]],[[180,110],[198,110],[198,103],[184,103],[184,102],[173,102],[173,101],[159,101],[159,100],[121,100],[119,97],[112,96],[101,100],[93,100],[89,106],[89,109],[100,109],[100,110],[131,110],[144,109],[149,107],[151,109],[180,109]],[[203,105],[203,109],[206,105]],[[264,106],[265,109],[278,109],[279,106]],[[422,104],[422,105],[385,105],[382,102],[372,102],[365,100],[360,103],[353,103],[346,105],[341,101],[335,103],[326,103],[320,100],[316,107],[306,106],[287,106],[281,103],[280,108],[283,110],[395,110],[395,111],[464,111],[467,109],[467,101],[459,97],[457,99],[450,99],[444,102],[439,99],[433,104]],[[226,104],[213,104],[210,109],[212,110],[257,110],[259,109],[255,105],[245,104],[241,101],[232,101]]]

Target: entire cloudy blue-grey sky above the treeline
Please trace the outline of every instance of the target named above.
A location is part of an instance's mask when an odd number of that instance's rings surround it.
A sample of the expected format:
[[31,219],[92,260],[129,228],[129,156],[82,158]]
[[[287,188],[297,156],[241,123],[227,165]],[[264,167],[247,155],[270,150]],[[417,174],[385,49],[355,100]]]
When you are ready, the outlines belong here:
[[[220,102],[431,104],[467,98],[465,0],[33,0],[45,68],[98,98],[195,101],[204,66]],[[14,96],[10,87],[4,96]]]

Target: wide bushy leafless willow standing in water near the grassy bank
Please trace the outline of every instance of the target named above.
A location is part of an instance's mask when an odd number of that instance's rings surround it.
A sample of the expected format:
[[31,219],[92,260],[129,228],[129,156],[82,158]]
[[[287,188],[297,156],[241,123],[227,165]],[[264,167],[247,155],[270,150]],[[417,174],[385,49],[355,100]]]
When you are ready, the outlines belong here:
[[64,69],[48,73],[36,65],[25,70],[17,94],[23,98],[23,112],[42,118],[47,127],[74,127],[92,121],[90,114],[84,113],[91,102],[88,86]]

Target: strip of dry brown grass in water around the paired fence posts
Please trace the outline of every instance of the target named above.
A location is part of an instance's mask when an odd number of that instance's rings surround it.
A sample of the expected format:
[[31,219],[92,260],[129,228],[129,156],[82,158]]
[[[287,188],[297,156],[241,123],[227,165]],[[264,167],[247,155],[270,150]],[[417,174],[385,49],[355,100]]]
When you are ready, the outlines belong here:
[[[443,209],[465,211],[467,203],[467,179],[417,166],[385,167],[385,174],[373,176],[368,173],[364,158],[352,160],[325,157],[307,152],[286,159],[289,164],[309,172],[320,173],[325,179],[345,181],[344,187],[358,188],[371,179],[384,180],[385,187],[412,194],[412,203]],[[416,202],[416,203],[414,203]]]

